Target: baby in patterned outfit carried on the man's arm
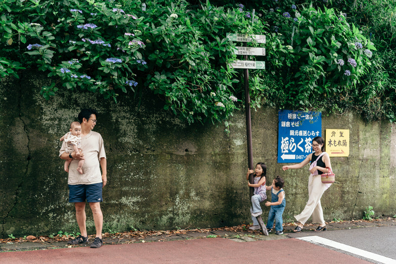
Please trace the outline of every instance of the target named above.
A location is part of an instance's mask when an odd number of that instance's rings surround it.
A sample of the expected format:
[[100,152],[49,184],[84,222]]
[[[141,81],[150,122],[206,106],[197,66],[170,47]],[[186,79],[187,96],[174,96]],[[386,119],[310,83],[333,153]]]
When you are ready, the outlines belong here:
[[[70,124],[70,132],[67,132],[63,137],[60,138],[60,141],[65,141],[66,143],[66,153],[70,154],[74,151],[76,153],[76,157],[80,158],[80,152],[83,151],[81,142],[80,142],[80,134],[81,134],[81,124],[77,121],[71,122]],[[65,171],[69,172],[69,165],[73,158],[66,159],[65,161]],[[80,174],[83,174],[83,165],[84,158],[79,159],[77,171]]]

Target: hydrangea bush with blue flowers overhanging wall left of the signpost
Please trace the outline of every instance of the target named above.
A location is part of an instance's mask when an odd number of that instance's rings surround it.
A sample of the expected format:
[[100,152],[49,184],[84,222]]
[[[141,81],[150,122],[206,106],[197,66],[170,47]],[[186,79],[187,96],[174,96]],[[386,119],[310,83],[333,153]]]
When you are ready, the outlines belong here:
[[243,5],[193,10],[185,0],[2,0],[0,10],[1,77],[37,66],[53,79],[46,99],[60,88],[117,100],[148,87],[189,122],[232,115],[241,89],[226,33],[263,28]]

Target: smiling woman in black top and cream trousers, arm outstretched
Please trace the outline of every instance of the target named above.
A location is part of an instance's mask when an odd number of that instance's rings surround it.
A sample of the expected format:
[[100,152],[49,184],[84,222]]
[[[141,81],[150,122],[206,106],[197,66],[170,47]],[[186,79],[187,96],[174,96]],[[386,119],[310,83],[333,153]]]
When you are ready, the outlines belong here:
[[[321,174],[332,174],[331,163],[329,154],[324,152],[324,141],[322,137],[315,137],[312,140],[313,153],[309,154],[303,161],[293,165],[283,166],[283,170],[297,169],[308,164],[311,161],[309,167],[308,179],[308,202],[305,205],[304,210],[294,217],[297,219],[297,227],[293,230],[296,233],[301,232],[302,227],[308,218],[312,215],[312,223],[319,223],[318,228],[315,231],[326,231],[326,222],[323,218],[323,210],[320,204],[320,198],[324,191],[330,187],[331,183],[322,183]],[[334,177],[334,174],[332,174]],[[334,178],[333,178],[334,181]]]

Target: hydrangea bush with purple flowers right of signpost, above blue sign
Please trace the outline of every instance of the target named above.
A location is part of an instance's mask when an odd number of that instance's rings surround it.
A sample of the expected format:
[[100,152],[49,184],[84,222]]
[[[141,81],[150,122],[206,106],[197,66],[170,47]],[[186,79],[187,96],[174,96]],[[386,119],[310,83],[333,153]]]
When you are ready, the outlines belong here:
[[285,106],[325,109],[356,89],[373,67],[376,48],[342,12],[302,4],[263,12],[269,18],[272,38],[286,46],[278,49],[282,66],[287,65],[280,73]]

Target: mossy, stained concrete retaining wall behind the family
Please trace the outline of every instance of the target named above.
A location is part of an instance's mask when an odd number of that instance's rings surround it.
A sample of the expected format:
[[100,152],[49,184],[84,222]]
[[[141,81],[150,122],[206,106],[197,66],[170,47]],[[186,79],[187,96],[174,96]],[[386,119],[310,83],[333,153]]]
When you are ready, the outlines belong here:
[[[0,83],[0,237],[78,231],[67,202],[67,174],[58,158],[59,138],[82,107],[99,110],[108,185],[103,189],[104,231],[206,228],[251,222],[249,216],[244,112],[235,113],[231,133],[215,125],[188,126],[162,110],[150,92],[119,103],[78,91],[60,91],[45,101],[39,87],[49,80],[25,72]],[[337,182],[322,198],[326,220],[396,213],[395,125],[365,124],[354,112],[322,115],[326,128],[350,130],[350,155],[332,158]],[[282,171],[277,163],[277,109],[252,111],[254,163],[264,161],[268,180],[286,180],[284,221],[305,206],[308,167]],[[268,193],[269,195],[269,193]],[[264,220],[268,208],[264,208]],[[87,208],[88,229],[94,229]]]

